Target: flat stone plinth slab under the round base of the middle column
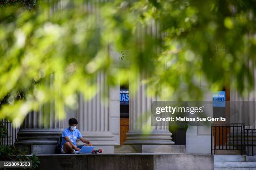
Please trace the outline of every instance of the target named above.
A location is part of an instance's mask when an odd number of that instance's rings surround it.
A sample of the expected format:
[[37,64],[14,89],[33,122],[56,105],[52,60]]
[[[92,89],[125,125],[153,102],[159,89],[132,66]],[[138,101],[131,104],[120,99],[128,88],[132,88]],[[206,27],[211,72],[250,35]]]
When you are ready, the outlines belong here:
[[115,145],[114,153],[185,153],[184,145]]

